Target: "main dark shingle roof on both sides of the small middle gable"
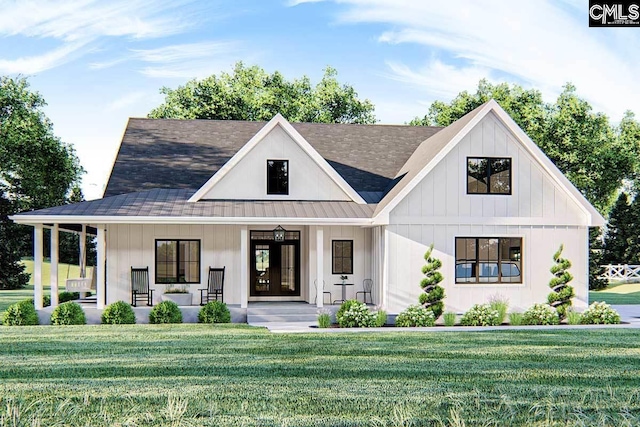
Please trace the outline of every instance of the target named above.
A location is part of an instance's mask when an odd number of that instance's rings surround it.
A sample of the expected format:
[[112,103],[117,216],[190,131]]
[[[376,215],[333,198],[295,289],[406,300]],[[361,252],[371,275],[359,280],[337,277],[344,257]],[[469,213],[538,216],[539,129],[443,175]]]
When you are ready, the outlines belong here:
[[[105,197],[200,188],[266,123],[129,119]],[[368,202],[377,202],[420,143],[441,128],[292,123]]]

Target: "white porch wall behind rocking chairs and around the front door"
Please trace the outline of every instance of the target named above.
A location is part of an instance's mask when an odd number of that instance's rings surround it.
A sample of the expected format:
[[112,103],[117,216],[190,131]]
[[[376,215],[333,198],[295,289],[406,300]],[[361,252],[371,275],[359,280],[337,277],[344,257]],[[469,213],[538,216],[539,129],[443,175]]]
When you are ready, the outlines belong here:
[[[247,238],[251,230],[272,230],[277,226],[260,225],[248,228]],[[130,275],[131,267],[149,267],[149,281],[154,289],[154,304],[161,301],[165,285],[155,284],[155,240],[156,239],[199,239],[200,284],[189,285],[192,304],[200,303],[198,289],[207,285],[208,268],[226,266],[224,283],[224,301],[227,304],[241,303],[240,269],[242,265],[250,268],[249,260],[243,263],[240,259],[240,226],[235,225],[134,225],[110,224],[107,226],[107,304],[116,301],[131,300]],[[300,297],[299,299],[313,304],[315,290],[313,279],[316,277],[316,227],[289,226],[289,231],[300,231]],[[371,273],[371,230],[360,227],[332,226],[324,227],[324,278],[326,290],[330,291],[334,300],[340,298],[341,288],[334,286],[340,283],[340,275],[331,274],[331,240],[353,239],[354,274],[349,275],[347,296],[355,297],[355,292],[362,290],[362,281],[372,278]],[[249,241],[247,245],[249,245]],[[247,278],[250,277],[247,271]],[[248,286],[245,283],[244,286]],[[376,291],[374,290],[374,298]],[[249,293],[247,292],[247,295]],[[249,298],[249,300],[277,301],[279,297]]]

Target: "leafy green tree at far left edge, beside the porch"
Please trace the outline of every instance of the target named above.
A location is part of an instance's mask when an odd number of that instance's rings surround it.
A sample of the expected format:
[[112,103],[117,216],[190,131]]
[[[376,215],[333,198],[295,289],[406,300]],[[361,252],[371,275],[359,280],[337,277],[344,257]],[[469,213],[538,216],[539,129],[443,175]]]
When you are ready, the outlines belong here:
[[[73,148],[53,134],[42,96],[26,78],[0,77],[0,196],[4,215],[65,203],[83,172]],[[1,257],[30,246],[30,227],[11,226],[0,245]],[[13,252],[12,252],[13,251]],[[12,283],[21,283],[11,270]],[[2,275],[8,271],[2,270]]]

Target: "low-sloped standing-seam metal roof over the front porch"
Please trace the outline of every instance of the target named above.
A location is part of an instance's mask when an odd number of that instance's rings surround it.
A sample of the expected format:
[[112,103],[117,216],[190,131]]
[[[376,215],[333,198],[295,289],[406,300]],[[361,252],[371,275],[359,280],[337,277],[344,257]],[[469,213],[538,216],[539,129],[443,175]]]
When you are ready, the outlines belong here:
[[374,204],[344,201],[200,200],[191,190],[154,189],[16,215],[189,218],[371,218]]

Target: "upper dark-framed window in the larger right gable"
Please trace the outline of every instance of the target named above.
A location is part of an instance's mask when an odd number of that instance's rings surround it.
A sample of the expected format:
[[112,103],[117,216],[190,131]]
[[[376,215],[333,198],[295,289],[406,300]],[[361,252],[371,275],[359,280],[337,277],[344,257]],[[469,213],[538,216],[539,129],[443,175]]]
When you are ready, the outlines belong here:
[[511,159],[468,157],[467,194],[511,194]]

